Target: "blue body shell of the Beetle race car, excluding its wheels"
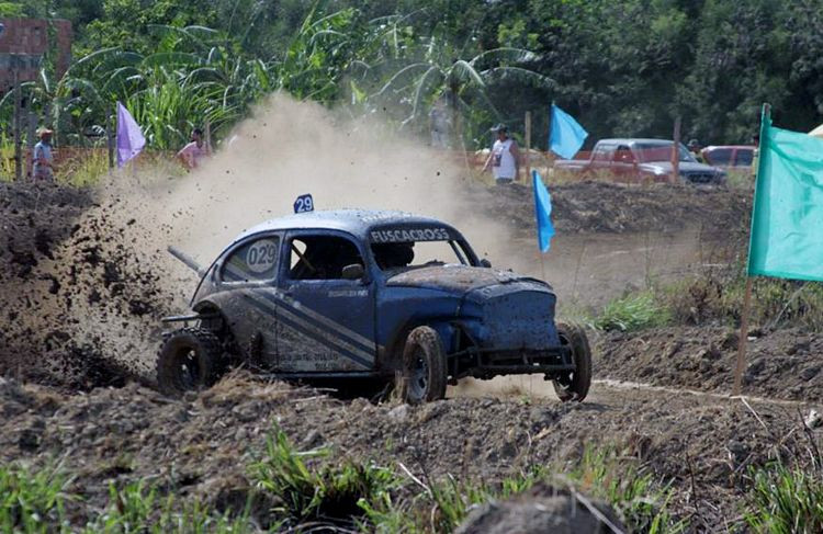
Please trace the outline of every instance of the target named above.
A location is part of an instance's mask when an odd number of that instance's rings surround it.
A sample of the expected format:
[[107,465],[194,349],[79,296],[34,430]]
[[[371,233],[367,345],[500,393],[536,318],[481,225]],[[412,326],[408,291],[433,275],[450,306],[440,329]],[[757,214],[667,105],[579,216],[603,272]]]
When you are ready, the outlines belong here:
[[[448,243],[459,261],[386,259],[392,247],[429,241]],[[407,334],[422,325],[437,331],[452,383],[574,368],[546,283],[493,270],[453,227],[398,212],[258,225],[205,270],[191,306],[218,317],[240,363],[284,377],[391,377]]]

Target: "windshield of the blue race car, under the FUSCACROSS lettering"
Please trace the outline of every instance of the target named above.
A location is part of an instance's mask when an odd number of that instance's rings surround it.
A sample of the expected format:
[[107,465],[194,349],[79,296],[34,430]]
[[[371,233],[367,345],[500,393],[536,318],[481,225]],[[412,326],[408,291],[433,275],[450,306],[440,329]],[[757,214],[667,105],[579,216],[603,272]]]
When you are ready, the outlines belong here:
[[453,239],[372,243],[374,261],[382,271],[407,271],[431,265],[469,265],[470,255]]

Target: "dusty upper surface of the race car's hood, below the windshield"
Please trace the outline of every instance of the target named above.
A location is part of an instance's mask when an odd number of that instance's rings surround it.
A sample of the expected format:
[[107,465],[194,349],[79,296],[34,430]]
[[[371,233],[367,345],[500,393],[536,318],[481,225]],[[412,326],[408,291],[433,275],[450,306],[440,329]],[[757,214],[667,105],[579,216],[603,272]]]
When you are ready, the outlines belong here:
[[497,271],[487,268],[466,265],[437,265],[412,269],[390,275],[388,286],[425,287],[450,293],[465,294],[493,285],[525,283],[534,288],[551,289],[549,284],[529,276],[521,276],[509,271]]

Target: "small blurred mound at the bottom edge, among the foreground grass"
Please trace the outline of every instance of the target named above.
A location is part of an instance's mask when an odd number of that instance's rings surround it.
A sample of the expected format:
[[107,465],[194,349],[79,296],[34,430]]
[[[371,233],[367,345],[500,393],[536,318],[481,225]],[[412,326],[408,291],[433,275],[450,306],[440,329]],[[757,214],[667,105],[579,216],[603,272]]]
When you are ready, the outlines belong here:
[[483,504],[466,518],[455,534],[573,534],[624,530],[606,502],[593,502],[575,491],[540,484],[508,501]]

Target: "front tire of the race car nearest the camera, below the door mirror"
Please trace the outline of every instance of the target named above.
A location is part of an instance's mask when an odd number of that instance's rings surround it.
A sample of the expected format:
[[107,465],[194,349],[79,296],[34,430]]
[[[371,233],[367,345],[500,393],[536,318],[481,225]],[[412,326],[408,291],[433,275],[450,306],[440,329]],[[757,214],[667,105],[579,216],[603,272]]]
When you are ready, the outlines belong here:
[[440,336],[431,327],[417,327],[403,348],[403,370],[395,387],[401,398],[419,405],[446,397],[446,351]]

